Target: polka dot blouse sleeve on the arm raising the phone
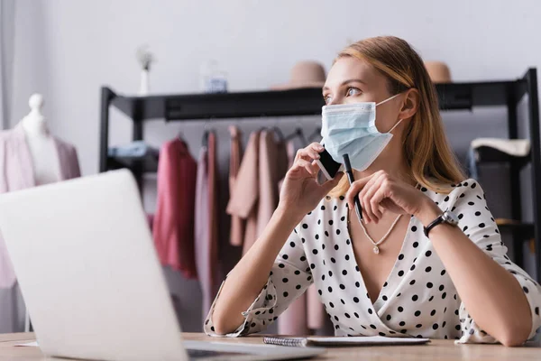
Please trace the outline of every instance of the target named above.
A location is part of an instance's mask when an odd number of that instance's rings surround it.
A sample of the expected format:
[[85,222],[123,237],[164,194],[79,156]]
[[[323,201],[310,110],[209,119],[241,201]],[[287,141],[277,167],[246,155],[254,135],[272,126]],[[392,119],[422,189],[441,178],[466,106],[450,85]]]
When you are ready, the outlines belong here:
[[[286,310],[291,302],[307,290],[313,281],[303,243],[304,239],[298,236],[295,229],[280,250],[267,283],[248,310],[243,311],[243,324],[234,332],[225,335],[226,337],[244,336],[266,329],[278,319],[280,313]],[[220,291],[223,285],[224,283],[220,286]],[[220,291],[215,301],[220,296]],[[212,322],[215,301],[206,317],[204,329],[207,335],[219,337],[222,335],[215,333]]]

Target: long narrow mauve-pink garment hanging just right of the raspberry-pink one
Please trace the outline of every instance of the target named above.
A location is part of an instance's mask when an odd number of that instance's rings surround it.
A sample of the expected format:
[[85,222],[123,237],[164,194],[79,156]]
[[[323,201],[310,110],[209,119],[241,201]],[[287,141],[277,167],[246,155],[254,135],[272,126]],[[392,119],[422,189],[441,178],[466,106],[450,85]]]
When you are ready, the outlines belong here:
[[216,137],[210,132],[206,147],[201,148],[196,189],[196,264],[203,293],[203,319],[217,292],[218,212]]

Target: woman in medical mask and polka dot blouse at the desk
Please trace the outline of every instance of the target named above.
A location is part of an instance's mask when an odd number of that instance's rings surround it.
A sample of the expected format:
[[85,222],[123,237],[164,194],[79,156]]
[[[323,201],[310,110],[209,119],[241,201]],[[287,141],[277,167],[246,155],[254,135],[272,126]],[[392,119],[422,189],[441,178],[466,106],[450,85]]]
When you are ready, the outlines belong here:
[[509,261],[479,183],[464,180],[417,52],[395,37],[356,42],[338,55],[323,97],[323,143],[337,162],[348,153],[356,181],[340,173],[319,185],[323,147],[298,152],[206,333],[261,331],[314,282],[337,336],[506,346],[535,336],[541,288]]

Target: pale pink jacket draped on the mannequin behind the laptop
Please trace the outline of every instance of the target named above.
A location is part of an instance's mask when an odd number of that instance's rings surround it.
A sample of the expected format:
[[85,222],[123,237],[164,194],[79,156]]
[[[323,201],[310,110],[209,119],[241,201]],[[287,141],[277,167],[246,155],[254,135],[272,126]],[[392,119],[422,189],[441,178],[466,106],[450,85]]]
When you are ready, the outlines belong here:
[[[60,180],[81,175],[75,147],[53,137],[60,164]],[[0,193],[36,186],[33,161],[23,126],[0,132]],[[13,264],[0,236],[0,288],[11,288],[15,282]]]

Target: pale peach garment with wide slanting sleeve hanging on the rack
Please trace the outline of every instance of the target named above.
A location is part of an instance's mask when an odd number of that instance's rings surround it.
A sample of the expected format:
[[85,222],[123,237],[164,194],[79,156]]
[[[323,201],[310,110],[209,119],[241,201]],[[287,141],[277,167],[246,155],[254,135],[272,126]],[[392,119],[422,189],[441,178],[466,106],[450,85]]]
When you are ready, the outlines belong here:
[[243,162],[237,173],[234,190],[227,204],[227,214],[246,219],[243,254],[257,237],[257,199],[259,197],[259,143],[260,132],[250,134]]

